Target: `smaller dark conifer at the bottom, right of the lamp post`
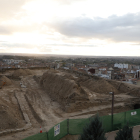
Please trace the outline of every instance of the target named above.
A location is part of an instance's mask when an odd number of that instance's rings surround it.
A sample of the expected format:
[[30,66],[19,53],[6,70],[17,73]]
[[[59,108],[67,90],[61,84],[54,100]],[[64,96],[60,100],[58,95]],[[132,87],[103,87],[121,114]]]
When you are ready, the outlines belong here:
[[129,127],[128,124],[125,125],[116,133],[115,140],[134,140],[133,127]]

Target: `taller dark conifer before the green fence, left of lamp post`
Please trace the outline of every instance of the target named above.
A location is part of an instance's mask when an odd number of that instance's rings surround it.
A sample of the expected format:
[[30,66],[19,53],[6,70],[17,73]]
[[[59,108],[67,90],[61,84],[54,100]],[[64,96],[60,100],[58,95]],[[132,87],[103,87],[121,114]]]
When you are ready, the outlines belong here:
[[99,116],[95,116],[86,124],[79,140],[107,140]]

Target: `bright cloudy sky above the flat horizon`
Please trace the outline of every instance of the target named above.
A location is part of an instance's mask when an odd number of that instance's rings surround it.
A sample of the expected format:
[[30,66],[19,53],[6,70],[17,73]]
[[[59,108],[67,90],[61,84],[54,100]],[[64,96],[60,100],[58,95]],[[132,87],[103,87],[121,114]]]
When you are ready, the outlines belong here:
[[0,0],[0,53],[140,56],[139,0]]

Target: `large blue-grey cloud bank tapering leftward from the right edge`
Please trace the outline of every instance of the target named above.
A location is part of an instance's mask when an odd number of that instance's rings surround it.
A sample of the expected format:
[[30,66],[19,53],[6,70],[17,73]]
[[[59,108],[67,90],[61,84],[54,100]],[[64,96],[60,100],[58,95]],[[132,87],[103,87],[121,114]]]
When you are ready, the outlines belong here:
[[116,42],[139,42],[140,38],[140,13],[112,15],[108,18],[59,19],[47,25],[69,37],[109,39]]

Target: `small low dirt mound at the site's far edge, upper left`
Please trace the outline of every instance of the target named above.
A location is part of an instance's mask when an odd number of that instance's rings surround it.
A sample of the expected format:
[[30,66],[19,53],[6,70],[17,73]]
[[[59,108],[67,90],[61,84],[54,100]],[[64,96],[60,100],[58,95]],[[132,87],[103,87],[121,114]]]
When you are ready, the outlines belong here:
[[19,77],[19,76],[27,76],[32,75],[32,72],[29,69],[18,69],[15,70],[12,76]]

